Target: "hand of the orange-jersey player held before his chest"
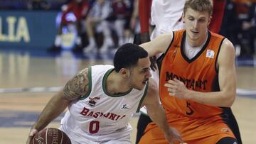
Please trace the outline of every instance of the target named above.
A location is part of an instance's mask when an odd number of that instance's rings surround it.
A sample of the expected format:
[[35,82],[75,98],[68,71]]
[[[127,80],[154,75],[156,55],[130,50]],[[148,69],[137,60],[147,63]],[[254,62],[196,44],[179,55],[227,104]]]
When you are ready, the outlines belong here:
[[176,96],[180,99],[188,99],[185,84],[178,79],[169,80],[168,83],[164,84],[164,87],[167,87],[170,96]]

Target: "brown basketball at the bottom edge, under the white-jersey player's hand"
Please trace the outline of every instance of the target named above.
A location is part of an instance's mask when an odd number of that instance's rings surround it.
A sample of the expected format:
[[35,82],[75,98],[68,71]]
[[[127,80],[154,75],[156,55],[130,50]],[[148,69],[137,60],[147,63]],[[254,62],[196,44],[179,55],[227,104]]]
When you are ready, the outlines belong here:
[[45,128],[36,133],[31,140],[31,144],[71,144],[68,135],[58,128]]

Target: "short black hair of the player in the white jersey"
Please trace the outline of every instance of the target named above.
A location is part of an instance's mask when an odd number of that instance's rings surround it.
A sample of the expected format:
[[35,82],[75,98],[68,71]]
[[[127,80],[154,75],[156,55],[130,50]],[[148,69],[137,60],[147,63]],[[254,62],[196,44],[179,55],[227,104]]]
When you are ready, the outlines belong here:
[[148,55],[148,52],[139,45],[126,43],[114,54],[114,70],[119,72],[122,68],[135,66],[140,58],[148,57]]

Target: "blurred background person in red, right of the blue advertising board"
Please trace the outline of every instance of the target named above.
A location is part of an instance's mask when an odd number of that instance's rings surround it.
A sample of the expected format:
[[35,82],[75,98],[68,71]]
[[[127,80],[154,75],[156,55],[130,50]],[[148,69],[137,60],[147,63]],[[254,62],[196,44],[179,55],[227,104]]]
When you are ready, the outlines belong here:
[[[68,6],[63,6],[63,16],[61,18],[60,26],[58,27],[58,33],[55,37],[53,47],[48,49],[49,52],[59,52],[61,50],[60,45],[62,43],[61,35],[63,34],[63,26],[68,26],[68,24],[75,24],[76,31],[78,32],[78,37],[75,40],[75,49],[73,49],[73,51],[82,51],[82,22],[85,21],[89,9],[90,2],[87,0],[73,0]],[[74,13],[76,21],[70,21],[66,17],[70,12]]]

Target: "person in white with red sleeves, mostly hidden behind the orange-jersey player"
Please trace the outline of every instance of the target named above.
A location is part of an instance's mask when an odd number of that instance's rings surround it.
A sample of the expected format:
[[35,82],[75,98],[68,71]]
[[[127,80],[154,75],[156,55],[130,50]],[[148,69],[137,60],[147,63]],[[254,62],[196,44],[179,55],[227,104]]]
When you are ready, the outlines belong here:
[[[183,6],[186,0],[139,0],[139,22],[141,27],[141,40],[142,43],[146,43],[149,40],[153,40],[156,36],[164,33],[172,33],[183,28],[181,16],[183,13]],[[152,2],[152,4],[151,4]],[[151,10],[150,10],[151,9]],[[213,33],[220,31],[220,26],[223,20],[223,14],[225,10],[225,0],[213,0],[213,14],[211,23],[208,29]],[[150,16],[151,13],[151,16]],[[149,16],[151,17],[151,25],[154,25],[149,38]],[[157,55],[159,56],[159,55]],[[152,59],[151,59],[152,60]],[[152,65],[154,66],[154,65]],[[152,78],[159,82],[159,72],[157,67],[151,67]],[[144,134],[144,129],[147,124],[151,122],[151,119],[146,114],[146,109],[142,107],[140,109],[141,115],[137,124],[137,140]],[[229,121],[232,123],[230,128],[234,130],[235,137],[238,139],[238,143],[242,143],[240,138],[240,131],[238,123],[230,112]]]

